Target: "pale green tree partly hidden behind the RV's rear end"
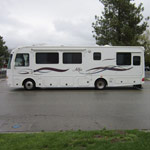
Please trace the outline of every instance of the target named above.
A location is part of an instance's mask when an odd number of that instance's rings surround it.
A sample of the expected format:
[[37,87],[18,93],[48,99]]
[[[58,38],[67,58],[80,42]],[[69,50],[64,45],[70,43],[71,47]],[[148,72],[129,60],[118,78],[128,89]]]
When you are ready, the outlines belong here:
[[139,42],[145,48],[145,65],[150,66],[150,30],[140,36]]

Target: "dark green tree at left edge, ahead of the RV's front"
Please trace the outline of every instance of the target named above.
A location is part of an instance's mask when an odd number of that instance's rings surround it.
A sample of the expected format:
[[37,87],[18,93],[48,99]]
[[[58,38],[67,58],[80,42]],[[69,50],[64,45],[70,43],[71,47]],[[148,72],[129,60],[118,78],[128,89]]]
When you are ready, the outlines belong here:
[[8,47],[5,45],[3,37],[0,36],[0,68],[7,64],[9,57]]

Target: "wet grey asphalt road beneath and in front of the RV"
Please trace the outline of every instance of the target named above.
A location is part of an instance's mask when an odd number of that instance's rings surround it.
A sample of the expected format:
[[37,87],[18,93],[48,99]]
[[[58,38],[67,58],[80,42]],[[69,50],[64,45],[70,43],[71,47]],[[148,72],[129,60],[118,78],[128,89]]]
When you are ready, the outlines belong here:
[[0,132],[150,129],[150,81],[95,89],[9,88],[0,80]]

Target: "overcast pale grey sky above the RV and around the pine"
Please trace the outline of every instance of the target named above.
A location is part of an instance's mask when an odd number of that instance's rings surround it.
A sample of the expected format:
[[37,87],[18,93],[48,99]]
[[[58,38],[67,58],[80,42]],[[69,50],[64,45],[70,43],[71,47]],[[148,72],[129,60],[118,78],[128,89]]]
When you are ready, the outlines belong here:
[[[150,15],[150,0],[143,15]],[[92,22],[99,0],[0,0],[0,35],[9,48],[33,44],[95,45]]]

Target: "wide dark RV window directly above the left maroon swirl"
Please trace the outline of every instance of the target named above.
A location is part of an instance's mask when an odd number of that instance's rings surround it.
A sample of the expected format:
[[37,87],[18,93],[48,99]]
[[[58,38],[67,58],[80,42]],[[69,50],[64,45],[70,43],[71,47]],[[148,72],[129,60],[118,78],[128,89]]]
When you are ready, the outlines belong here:
[[58,53],[36,53],[37,64],[58,64],[59,54]]

